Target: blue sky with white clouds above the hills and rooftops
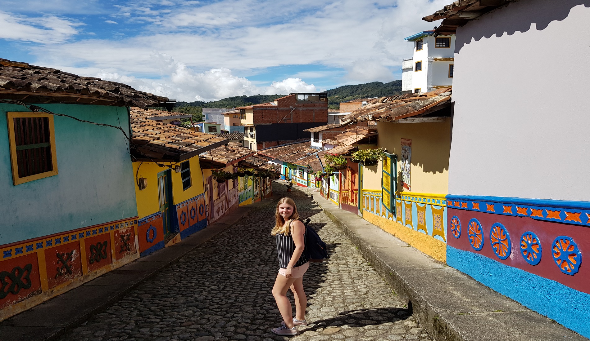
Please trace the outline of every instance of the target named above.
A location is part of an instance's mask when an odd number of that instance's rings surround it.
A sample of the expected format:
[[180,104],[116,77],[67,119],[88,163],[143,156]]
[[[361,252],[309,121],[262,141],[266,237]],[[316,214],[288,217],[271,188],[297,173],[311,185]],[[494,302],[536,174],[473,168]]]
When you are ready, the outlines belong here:
[[450,0],[2,0],[0,58],[183,101],[401,78]]

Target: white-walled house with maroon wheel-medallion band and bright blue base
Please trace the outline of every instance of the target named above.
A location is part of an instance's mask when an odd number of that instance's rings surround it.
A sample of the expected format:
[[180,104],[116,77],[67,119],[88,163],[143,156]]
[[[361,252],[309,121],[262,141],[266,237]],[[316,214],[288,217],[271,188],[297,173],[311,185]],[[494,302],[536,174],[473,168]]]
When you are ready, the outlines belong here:
[[[555,100],[536,86],[586,87],[590,59],[579,41],[590,8],[550,0],[496,7],[458,28],[469,6],[425,18],[444,19],[435,33],[456,33],[460,47],[447,264],[590,337],[588,100]],[[528,18],[545,19],[532,27]],[[578,61],[575,72],[555,66],[564,51]]]

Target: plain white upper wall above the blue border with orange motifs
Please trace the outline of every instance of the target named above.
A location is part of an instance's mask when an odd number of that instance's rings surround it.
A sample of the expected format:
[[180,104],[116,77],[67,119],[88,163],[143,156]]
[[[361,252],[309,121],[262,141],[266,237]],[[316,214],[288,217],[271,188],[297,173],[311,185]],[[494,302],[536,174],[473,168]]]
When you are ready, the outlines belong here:
[[590,8],[572,3],[457,29],[450,194],[590,201]]

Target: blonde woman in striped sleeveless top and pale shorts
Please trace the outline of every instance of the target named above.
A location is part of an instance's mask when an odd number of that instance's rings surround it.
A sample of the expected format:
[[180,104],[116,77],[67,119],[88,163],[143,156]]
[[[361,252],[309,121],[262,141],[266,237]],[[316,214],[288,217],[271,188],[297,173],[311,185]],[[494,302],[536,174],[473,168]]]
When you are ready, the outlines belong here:
[[[307,297],[303,290],[303,274],[309,268],[309,261],[303,254],[305,250],[305,225],[299,220],[293,199],[281,198],[277,204],[276,224],[271,231],[277,240],[278,269],[274,282],[273,296],[283,317],[283,326],[273,328],[276,335],[297,335],[296,326],[307,326],[305,309]],[[295,299],[296,314],[293,317],[291,301],[287,289],[291,289]]]

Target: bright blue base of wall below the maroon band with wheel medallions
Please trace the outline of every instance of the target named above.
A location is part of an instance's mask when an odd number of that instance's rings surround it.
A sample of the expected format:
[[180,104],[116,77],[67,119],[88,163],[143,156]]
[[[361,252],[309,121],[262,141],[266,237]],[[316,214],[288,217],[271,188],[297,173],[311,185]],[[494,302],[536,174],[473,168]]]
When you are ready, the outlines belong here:
[[590,338],[590,294],[506,266],[488,257],[447,246],[447,264],[478,282]]

